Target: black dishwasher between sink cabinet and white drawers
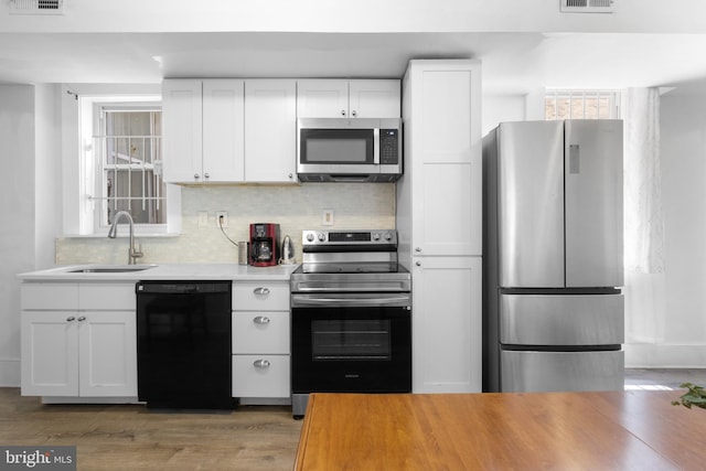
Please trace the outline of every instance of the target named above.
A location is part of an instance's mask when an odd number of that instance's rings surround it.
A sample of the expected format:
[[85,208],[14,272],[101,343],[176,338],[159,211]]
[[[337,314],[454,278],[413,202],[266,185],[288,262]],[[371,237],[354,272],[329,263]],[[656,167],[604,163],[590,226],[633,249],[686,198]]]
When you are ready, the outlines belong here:
[[233,408],[232,285],[136,285],[138,398],[148,407]]

